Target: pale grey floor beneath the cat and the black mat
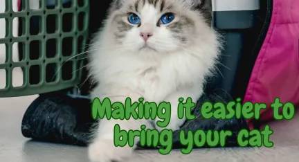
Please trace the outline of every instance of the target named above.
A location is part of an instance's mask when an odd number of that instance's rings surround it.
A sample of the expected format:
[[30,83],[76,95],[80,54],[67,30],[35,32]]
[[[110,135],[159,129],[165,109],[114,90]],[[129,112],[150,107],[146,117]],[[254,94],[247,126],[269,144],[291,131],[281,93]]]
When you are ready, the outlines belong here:
[[[3,84],[0,73],[0,87]],[[21,73],[16,73],[16,84]],[[30,141],[21,135],[21,119],[26,107],[37,96],[0,98],[0,162],[87,162],[87,148]],[[293,120],[271,123],[274,134],[272,148],[201,149],[189,155],[174,150],[167,156],[156,151],[139,151],[129,161],[298,161],[299,116]]]

